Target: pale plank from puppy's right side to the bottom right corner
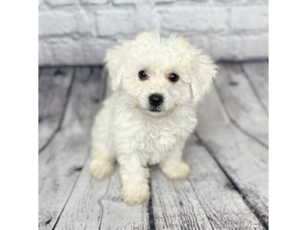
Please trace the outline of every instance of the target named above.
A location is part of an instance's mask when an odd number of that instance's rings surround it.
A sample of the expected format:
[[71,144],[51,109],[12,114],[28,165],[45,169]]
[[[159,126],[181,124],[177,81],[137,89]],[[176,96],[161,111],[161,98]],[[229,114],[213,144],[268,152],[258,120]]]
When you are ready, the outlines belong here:
[[246,204],[268,226],[268,149],[230,122],[214,88],[201,102],[196,133]]

